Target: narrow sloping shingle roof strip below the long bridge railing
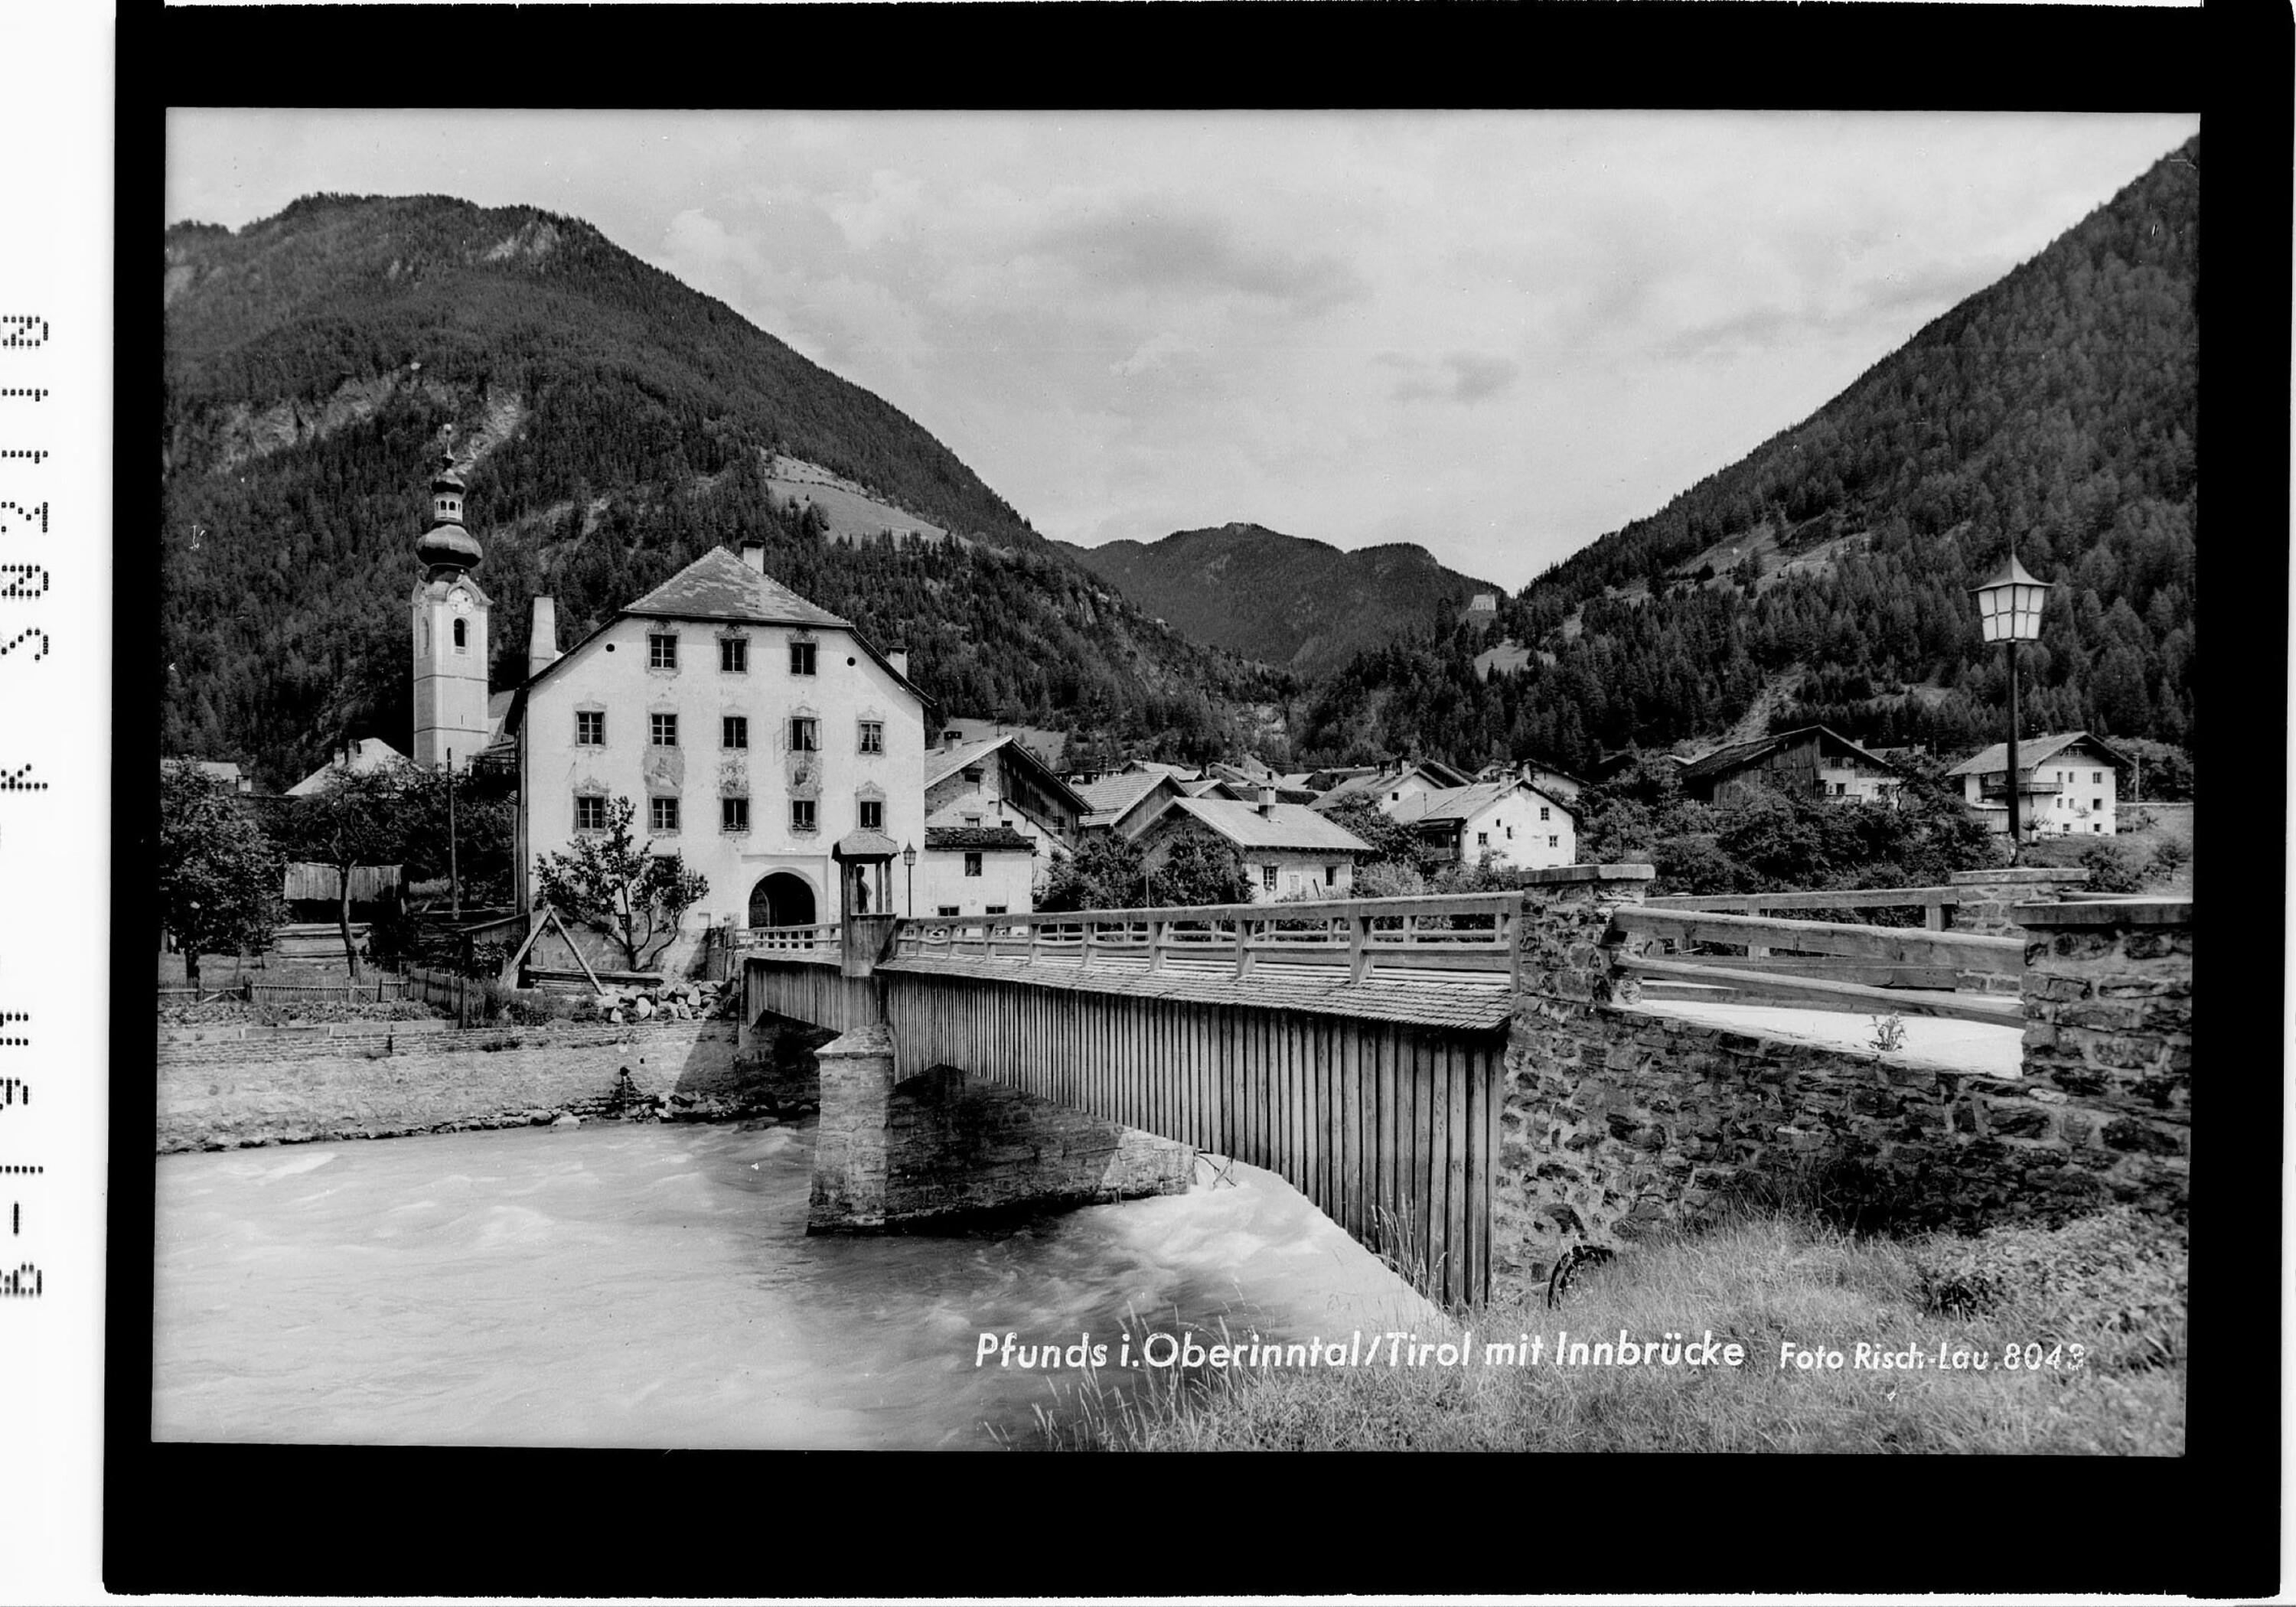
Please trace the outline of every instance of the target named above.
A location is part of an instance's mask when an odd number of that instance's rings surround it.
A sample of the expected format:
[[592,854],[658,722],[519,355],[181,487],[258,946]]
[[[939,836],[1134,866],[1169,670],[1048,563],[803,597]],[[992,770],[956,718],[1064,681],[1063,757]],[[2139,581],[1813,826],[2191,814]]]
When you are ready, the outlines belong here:
[[1515,994],[1492,980],[1465,983],[1456,976],[1373,976],[1350,983],[1336,966],[1258,964],[1247,978],[1212,969],[1150,971],[1146,966],[1042,964],[1024,960],[879,960],[879,971],[909,976],[953,976],[976,983],[1026,983],[1077,994],[1125,994],[1130,999],[1171,999],[1178,1003],[1228,1003],[1258,1010],[1302,1010],[1306,1015],[1341,1015],[1357,1022],[1398,1022],[1405,1026],[1456,1026],[1497,1031],[1515,1015]]

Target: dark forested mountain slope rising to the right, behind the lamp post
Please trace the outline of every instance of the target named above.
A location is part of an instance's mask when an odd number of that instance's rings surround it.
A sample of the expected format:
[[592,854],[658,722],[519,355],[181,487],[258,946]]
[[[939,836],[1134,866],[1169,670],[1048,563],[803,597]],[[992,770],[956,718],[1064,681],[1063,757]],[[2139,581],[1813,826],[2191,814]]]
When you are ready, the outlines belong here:
[[1591,764],[1773,728],[1968,748],[2007,705],[1970,588],[2011,539],[2060,588],[2025,728],[2190,746],[2200,140],[2165,156],[1812,418],[1502,604],[1534,647],[1486,682],[1426,631],[1316,689],[1304,758],[1417,748]]

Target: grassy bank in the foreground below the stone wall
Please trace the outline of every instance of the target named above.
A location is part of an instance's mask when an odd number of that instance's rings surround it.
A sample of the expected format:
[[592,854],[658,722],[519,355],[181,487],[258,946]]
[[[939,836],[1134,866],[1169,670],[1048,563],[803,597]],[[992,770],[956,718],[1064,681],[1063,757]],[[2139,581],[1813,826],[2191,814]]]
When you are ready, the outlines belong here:
[[[1419,1338],[1463,1327],[1460,1366],[1387,1366],[1382,1345],[1350,1368],[1171,1368],[1139,1389],[1088,1377],[1038,1412],[1035,1449],[2183,1453],[2186,1240],[2126,1210],[1975,1240],[1740,1217],[1582,1272],[1557,1311],[1541,1292]],[[1557,1368],[1559,1329],[1573,1343],[1713,1329],[1745,1364]],[[1520,1334],[1550,1354],[1486,1357]],[[1782,1368],[1789,1341],[1841,1366]],[[1926,1366],[1860,1368],[1860,1343]],[[1940,1345],[1986,1368],[1940,1368]]]

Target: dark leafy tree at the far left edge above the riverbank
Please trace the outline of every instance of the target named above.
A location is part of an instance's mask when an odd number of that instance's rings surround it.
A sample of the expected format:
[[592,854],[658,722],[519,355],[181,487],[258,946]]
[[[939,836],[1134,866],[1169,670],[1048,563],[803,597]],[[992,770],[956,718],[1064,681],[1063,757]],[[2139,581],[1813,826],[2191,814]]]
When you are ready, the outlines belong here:
[[184,948],[186,980],[200,985],[200,953],[262,953],[287,918],[282,861],[262,826],[191,764],[163,764],[158,781],[161,923]]

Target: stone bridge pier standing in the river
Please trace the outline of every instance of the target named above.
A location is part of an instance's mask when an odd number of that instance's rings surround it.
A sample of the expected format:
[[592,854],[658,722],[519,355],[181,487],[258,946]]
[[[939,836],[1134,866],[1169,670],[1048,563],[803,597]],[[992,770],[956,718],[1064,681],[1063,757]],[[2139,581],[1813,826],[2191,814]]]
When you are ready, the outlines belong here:
[[1010,1084],[939,1065],[893,1081],[893,1040],[859,1026],[820,1051],[810,1233],[889,1233],[1182,1194],[1196,1152]]

